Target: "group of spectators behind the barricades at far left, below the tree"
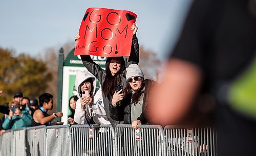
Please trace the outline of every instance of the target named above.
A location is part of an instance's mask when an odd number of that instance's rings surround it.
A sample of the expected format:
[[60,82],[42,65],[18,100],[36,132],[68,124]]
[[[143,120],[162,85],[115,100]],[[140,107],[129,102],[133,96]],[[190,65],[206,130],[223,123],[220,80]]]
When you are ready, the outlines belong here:
[[[0,96],[4,92],[0,91]],[[53,96],[44,93],[39,96],[39,105],[36,98],[24,97],[23,93],[14,93],[13,99],[0,106],[0,113],[4,116],[0,120],[0,135],[8,129],[19,129],[37,125],[51,125],[56,117],[62,117],[62,112],[47,114],[53,108]]]

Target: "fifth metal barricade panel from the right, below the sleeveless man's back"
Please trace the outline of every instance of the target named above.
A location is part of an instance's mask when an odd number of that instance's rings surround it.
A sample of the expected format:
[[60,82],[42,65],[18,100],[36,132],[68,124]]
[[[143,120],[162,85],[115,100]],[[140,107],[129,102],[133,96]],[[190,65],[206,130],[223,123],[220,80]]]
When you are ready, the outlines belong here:
[[46,126],[26,128],[27,155],[46,155]]

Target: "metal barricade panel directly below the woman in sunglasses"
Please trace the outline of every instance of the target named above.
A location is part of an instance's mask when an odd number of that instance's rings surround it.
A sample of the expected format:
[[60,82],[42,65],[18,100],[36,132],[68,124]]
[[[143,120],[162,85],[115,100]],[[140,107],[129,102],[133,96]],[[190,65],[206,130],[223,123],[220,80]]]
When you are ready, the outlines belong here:
[[164,155],[163,128],[160,125],[117,125],[116,155]]

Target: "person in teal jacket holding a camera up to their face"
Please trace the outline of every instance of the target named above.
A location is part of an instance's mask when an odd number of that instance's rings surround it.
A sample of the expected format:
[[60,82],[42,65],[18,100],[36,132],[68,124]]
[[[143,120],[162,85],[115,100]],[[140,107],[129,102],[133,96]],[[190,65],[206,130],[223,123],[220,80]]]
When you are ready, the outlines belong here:
[[32,116],[26,110],[21,110],[22,106],[18,101],[12,100],[9,102],[10,112],[3,122],[4,129],[18,129],[31,125]]

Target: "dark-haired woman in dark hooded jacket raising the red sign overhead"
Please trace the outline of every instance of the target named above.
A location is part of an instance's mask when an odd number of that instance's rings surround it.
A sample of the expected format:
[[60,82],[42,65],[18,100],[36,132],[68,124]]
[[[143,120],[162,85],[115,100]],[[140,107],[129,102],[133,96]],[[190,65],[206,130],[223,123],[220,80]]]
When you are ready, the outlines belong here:
[[[127,66],[130,64],[139,63],[139,43],[136,37],[136,32],[138,28],[136,23],[133,23],[131,31],[133,31],[133,44],[131,47],[130,57],[127,62]],[[75,39],[80,38],[79,33],[76,34]],[[121,85],[122,89],[126,87],[125,78],[125,61],[123,57],[109,57],[106,59],[105,70],[102,69],[98,64],[96,64],[90,55],[81,55],[83,65],[100,81],[103,92],[103,103],[106,111],[106,116],[111,122],[112,126],[115,128],[117,124],[121,121],[116,121],[110,117],[109,103],[116,92],[117,86]],[[117,95],[120,100],[123,98],[123,93]]]

